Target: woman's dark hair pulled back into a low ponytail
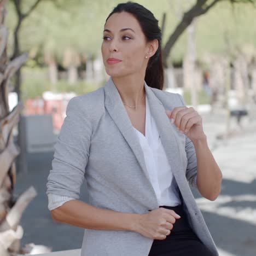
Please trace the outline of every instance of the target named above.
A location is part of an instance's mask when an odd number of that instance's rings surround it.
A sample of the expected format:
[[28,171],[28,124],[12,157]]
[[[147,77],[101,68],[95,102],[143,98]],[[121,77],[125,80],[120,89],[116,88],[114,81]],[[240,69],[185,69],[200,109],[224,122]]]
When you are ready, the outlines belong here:
[[150,10],[141,4],[131,1],[118,4],[108,15],[108,18],[112,14],[121,13],[122,11],[132,14],[137,19],[147,42],[158,39],[158,50],[156,50],[155,54],[148,61],[144,80],[148,86],[162,90],[164,85],[164,68],[162,65],[161,50],[162,33],[158,26],[158,20],[155,19],[154,14]]

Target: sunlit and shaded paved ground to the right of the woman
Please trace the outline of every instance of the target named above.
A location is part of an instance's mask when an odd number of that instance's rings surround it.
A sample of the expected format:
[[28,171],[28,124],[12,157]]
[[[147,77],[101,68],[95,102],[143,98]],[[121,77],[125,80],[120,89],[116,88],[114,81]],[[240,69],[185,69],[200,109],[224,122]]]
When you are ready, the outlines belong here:
[[[224,115],[203,117],[214,159],[223,173],[216,201],[194,193],[221,255],[256,255],[256,123],[244,120],[245,133],[216,140],[225,131]],[[231,127],[236,124],[231,120]]]

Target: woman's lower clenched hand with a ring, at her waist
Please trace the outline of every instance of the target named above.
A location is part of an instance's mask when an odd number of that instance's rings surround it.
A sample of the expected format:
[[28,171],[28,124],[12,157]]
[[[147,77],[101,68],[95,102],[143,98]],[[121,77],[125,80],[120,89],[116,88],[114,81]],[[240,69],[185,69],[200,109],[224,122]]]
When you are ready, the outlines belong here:
[[148,213],[141,214],[135,231],[152,239],[164,240],[167,231],[172,230],[173,224],[179,218],[181,217],[173,210],[160,207]]

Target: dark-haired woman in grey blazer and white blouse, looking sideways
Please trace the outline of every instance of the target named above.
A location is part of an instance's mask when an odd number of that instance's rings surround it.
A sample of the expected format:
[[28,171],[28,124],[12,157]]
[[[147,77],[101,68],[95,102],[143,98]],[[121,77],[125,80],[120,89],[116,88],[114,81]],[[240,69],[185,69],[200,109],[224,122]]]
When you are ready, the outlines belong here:
[[54,220],[85,229],[82,256],[218,255],[189,184],[215,200],[222,173],[200,115],[162,91],[160,45],[149,10],[118,4],[101,47],[109,80],[68,103],[46,194]]

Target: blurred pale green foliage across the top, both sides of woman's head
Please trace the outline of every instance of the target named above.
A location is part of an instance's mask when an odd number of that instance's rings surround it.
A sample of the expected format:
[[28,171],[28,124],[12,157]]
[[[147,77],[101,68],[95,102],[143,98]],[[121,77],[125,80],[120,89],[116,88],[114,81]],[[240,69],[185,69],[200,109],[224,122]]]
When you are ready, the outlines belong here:
[[[22,10],[29,9],[34,1],[22,1]],[[68,46],[72,46],[78,53],[101,55],[104,22],[113,7],[121,2],[124,1],[42,1],[22,23],[19,32],[21,51],[37,49],[41,55],[44,51],[48,51],[53,53],[59,63],[63,60],[63,53]],[[189,10],[196,0],[161,0],[160,5],[158,1],[138,0],[136,2],[153,12],[159,20],[159,26],[161,26],[162,14],[166,12],[166,25],[162,38],[162,45],[165,45],[182,13]],[[195,45],[199,59],[209,52],[224,54],[225,36],[228,36],[232,49],[245,43],[256,47],[253,4],[242,3],[251,2],[250,0],[233,2],[236,4],[231,5],[230,1],[220,0],[207,14],[196,19]],[[7,11],[8,49],[11,51],[17,19],[13,3],[10,1],[7,1]],[[171,51],[171,60],[181,61],[186,51],[187,33],[184,32]]]

